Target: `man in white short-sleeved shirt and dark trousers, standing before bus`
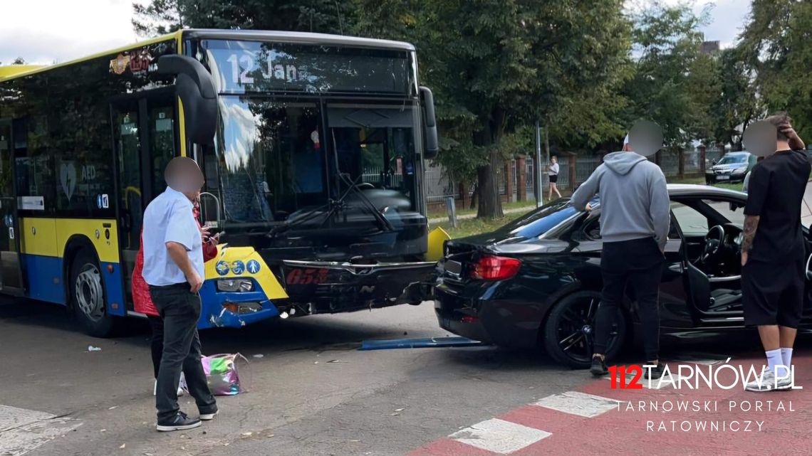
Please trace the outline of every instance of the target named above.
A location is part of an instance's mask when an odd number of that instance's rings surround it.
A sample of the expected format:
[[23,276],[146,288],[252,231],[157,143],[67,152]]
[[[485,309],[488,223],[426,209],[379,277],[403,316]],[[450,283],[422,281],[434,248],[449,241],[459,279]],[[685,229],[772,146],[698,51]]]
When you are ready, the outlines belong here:
[[[192,215],[192,200],[203,187],[203,173],[188,157],[176,157],[164,172],[166,191],[144,213],[144,276],[149,295],[163,323],[163,356],[158,370],[155,405],[158,431],[197,428],[214,419],[214,400],[201,364],[197,320],[205,270],[203,243]],[[195,398],[200,419],[189,418],[178,406],[177,386],[184,372],[189,393]]]

